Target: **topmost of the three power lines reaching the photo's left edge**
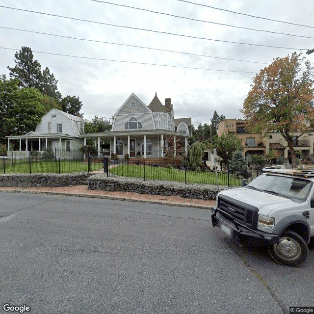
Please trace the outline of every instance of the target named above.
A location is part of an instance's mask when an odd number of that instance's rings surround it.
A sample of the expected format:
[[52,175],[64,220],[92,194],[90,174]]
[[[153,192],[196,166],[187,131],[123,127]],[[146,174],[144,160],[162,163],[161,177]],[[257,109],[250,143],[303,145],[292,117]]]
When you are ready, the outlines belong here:
[[38,12],[38,11],[26,10],[26,9],[19,9],[19,8],[4,6],[4,5],[0,5],[0,7],[12,9],[12,10],[18,10],[18,11],[36,13],[36,14],[43,14],[43,15],[48,15],[48,16],[53,16],[53,17],[71,19],[71,20],[76,20],[76,21],[83,21],[83,22],[113,26],[113,27],[120,27],[120,28],[129,28],[129,29],[134,29],[134,30],[142,30],[142,31],[148,31],[148,32],[153,32],[153,33],[158,33],[158,34],[166,34],[166,35],[179,36],[179,37],[192,38],[192,39],[202,39],[202,40],[209,40],[209,41],[214,41],[214,42],[223,42],[223,43],[231,43],[231,44],[238,44],[238,45],[248,45],[248,46],[255,46],[255,47],[267,47],[267,48],[278,48],[278,49],[288,49],[288,50],[307,50],[305,48],[291,48],[291,47],[280,47],[280,46],[272,46],[272,45],[242,43],[242,42],[236,42],[236,41],[231,41],[231,40],[220,40],[220,39],[212,39],[212,38],[206,38],[206,37],[197,37],[197,36],[171,33],[171,32],[165,32],[165,31],[159,31],[159,30],[153,30],[153,29],[147,29],[147,28],[138,28],[138,27],[132,27],[132,26],[125,26],[125,25],[115,25],[115,24],[110,24],[110,23],[103,23],[103,22],[96,22],[96,21],[85,20],[85,19],[78,19],[78,18],[63,16],[63,15]]

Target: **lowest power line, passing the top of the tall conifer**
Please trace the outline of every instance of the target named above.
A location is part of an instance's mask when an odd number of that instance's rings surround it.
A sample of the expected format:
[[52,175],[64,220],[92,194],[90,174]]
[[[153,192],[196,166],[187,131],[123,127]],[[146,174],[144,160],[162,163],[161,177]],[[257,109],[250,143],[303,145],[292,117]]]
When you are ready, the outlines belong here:
[[[7,48],[7,47],[0,47],[0,49],[14,50],[14,51],[18,51],[19,50],[19,49],[14,49],[14,48]],[[72,55],[72,54],[53,53],[53,52],[41,52],[41,51],[33,51],[33,52],[44,53],[44,54],[52,54],[52,55],[59,55],[59,56],[66,56],[66,57],[73,57],[73,58],[80,58],[80,59],[91,59],[91,60],[101,60],[101,61],[111,61],[111,62],[142,64],[142,65],[155,65],[155,66],[159,66],[159,67],[171,67],[171,68],[192,69],[192,70],[206,70],[206,71],[218,71],[218,72],[256,74],[256,72],[248,72],[248,71],[232,71],[232,70],[221,70],[221,69],[210,69],[210,68],[185,67],[185,66],[178,66],[178,65],[172,65],[172,64],[158,64],[158,63],[127,61],[127,60],[93,58],[93,57],[86,57],[86,56],[79,56],[79,55]]]

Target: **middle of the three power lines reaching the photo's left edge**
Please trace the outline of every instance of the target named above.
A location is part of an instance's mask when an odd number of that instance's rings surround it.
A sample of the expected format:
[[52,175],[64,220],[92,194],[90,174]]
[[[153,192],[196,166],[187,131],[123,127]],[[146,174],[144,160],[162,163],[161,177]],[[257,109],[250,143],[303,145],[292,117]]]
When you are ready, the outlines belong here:
[[57,35],[57,34],[52,34],[52,33],[45,33],[45,32],[39,32],[39,31],[33,31],[33,30],[27,30],[27,29],[20,29],[20,28],[12,28],[12,27],[4,27],[4,26],[0,26],[0,28],[2,28],[2,29],[9,29],[9,30],[18,30],[18,31],[24,31],[24,32],[30,32],[30,33],[41,34],[41,35],[49,35],[49,36],[55,36],[55,37],[61,37],[61,38],[69,38],[69,39],[74,39],[74,40],[82,40],[82,41],[90,41],[90,42],[96,42],[96,43],[117,45],[117,46],[127,46],[127,47],[134,47],[134,48],[141,48],[141,49],[150,49],[150,50],[163,51],[163,52],[181,53],[181,54],[202,56],[202,57],[215,58],[215,59],[223,59],[223,60],[232,60],[232,61],[249,62],[249,63],[257,63],[257,64],[269,64],[269,63],[266,63],[266,62],[248,61],[248,60],[240,60],[240,59],[231,59],[231,58],[217,57],[217,56],[211,56],[211,55],[206,55],[206,54],[197,54],[197,53],[191,53],[191,52],[179,52],[179,51],[167,50],[167,49],[161,49],[161,48],[152,48],[152,47],[145,47],[145,46],[127,45],[127,44],[113,43],[113,42],[109,42],[109,41],[100,41],[100,40],[85,39],[85,38],[71,37],[71,36],[65,36],[65,35]]

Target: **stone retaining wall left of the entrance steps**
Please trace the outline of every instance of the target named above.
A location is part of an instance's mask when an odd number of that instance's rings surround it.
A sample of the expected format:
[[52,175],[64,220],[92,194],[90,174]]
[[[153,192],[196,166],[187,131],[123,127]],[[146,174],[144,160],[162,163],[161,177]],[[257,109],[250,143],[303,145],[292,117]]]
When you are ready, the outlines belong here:
[[0,186],[72,186],[79,184],[86,172],[64,174],[5,174],[0,175]]

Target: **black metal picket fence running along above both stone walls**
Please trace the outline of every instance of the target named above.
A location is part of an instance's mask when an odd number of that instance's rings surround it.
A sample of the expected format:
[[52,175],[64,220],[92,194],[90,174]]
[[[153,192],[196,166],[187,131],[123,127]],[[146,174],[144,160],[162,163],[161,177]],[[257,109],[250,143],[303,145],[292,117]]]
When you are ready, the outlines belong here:
[[[70,158],[69,154],[62,156],[47,156],[32,153],[29,157],[1,157],[0,173],[69,173],[102,171],[107,177],[115,175],[144,180],[168,180],[183,183],[218,184],[240,186],[242,179],[249,183],[262,172],[261,167],[251,166],[241,169],[229,167],[220,168],[201,165],[194,169],[177,159],[130,158],[114,160],[103,156],[84,156],[76,152]],[[76,156],[76,157],[74,157]]]

